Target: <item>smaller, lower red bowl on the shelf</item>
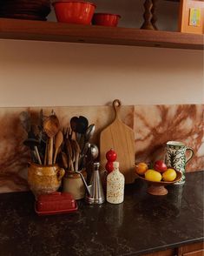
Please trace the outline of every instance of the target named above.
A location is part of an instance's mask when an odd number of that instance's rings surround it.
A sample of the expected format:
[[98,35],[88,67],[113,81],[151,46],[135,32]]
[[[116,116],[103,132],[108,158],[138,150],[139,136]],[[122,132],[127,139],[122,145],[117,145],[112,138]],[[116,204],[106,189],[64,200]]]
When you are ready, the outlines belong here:
[[94,17],[92,18],[92,24],[116,27],[119,22],[119,18],[121,18],[121,16],[118,14],[95,13]]

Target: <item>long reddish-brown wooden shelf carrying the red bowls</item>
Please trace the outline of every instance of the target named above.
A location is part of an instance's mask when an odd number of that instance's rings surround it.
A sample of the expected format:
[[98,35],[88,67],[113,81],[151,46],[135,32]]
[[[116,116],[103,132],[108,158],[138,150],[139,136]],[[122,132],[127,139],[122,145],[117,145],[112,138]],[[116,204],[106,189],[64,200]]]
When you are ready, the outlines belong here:
[[0,38],[203,50],[203,35],[0,18]]

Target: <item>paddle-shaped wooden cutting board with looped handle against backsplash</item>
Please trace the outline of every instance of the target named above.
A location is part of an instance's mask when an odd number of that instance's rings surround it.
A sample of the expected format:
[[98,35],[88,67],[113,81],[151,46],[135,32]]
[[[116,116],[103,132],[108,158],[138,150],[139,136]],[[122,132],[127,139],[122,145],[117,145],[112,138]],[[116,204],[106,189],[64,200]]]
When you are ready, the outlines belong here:
[[119,162],[120,171],[128,184],[135,181],[135,136],[134,131],[122,123],[119,117],[121,105],[119,99],[114,100],[115,120],[100,134],[100,161],[104,170],[107,163],[106,152],[112,148],[117,153],[116,161]]

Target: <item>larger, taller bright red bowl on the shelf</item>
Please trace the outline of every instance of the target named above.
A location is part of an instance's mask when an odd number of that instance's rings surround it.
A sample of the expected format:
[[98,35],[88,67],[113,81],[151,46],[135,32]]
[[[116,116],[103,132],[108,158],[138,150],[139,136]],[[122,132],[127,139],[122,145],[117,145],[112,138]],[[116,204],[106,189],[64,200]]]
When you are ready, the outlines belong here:
[[90,24],[95,12],[95,4],[88,2],[53,3],[58,22],[68,24]]

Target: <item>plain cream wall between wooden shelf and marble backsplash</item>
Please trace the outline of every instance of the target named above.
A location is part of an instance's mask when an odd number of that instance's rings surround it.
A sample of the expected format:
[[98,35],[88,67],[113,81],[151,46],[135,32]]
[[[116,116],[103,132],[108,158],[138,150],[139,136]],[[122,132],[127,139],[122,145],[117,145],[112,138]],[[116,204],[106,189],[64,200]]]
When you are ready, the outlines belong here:
[[0,106],[200,104],[203,93],[202,51],[0,40]]

